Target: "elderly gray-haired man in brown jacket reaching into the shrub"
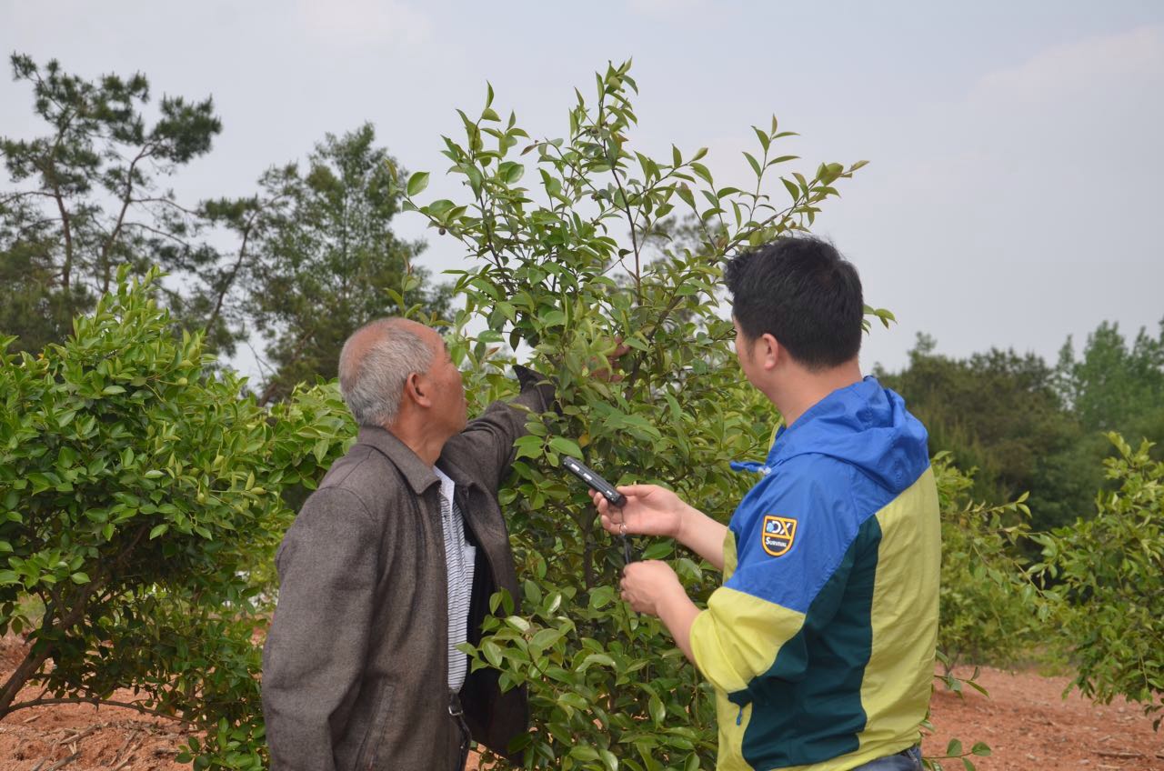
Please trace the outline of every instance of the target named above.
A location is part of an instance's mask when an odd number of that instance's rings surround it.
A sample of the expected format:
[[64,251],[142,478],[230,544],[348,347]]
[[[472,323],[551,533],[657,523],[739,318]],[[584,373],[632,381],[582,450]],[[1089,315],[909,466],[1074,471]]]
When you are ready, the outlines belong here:
[[263,651],[275,771],[462,769],[470,736],[502,754],[526,729],[520,689],[468,673],[489,597],[520,596],[497,488],[548,384],[467,422],[461,374],[440,335],[381,319],[340,356],[360,424],[288,530]]

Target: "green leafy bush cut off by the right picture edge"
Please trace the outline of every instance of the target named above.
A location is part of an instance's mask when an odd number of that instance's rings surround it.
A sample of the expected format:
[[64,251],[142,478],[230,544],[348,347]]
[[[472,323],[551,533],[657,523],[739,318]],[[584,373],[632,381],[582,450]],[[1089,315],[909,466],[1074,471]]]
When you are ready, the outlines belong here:
[[1133,450],[1116,433],[1108,438],[1119,454],[1103,462],[1117,489],[1099,493],[1093,518],[1035,536],[1043,554],[1031,571],[1062,607],[1074,685],[1155,713],[1164,707],[1164,462],[1152,460],[1148,441]]

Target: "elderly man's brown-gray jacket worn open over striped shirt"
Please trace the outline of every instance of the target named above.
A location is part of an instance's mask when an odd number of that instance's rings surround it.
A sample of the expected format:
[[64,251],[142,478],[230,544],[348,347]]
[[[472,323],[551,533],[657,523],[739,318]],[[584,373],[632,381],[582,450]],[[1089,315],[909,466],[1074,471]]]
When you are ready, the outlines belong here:
[[[513,403],[544,412],[553,389],[518,368]],[[497,488],[527,413],[495,403],[449,439],[436,465],[456,483],[477,547],[469,642],[489,596],[519,602]],[[304,503],[276,553],[279,596],[263,649],[263,714],[272,771],[452,770],[447,573],[432,468],[383,429],[361,429]],[[494,670],[461,689],[475,741],[502,754],[527,729],[521,689]]]

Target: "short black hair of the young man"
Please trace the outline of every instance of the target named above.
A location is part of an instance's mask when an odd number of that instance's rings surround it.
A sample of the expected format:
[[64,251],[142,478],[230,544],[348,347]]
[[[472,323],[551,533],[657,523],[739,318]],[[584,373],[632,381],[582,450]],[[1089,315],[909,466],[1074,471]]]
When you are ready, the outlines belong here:
[[733,257],[724,281],[747,339],[771,334],[812,370],[842,365],[860,351],[861,280],[831,243],[776,239]]

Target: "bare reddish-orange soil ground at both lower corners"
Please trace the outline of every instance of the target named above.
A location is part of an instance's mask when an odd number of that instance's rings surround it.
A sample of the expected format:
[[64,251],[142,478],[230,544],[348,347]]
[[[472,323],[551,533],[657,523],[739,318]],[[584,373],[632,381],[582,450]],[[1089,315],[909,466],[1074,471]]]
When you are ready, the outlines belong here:
[[[0,679],[22,656],[20,638],[0,638]],[[974,758],[980,771],[1164,771],[1164,731],[1154,731],[1135,705],[1094,705],[1078,693],[1063,699],[1067,678],[1034,671],[985,669],[979,682],[989,698],[936,695],[938,733],[925,741],[927,755],[944,754],[957,737],[967,749],[991,745],[989,757]],[[19,700],[35,696],[26,691]],[[173,759],[186,736],[172,721],[123,708],[34,707],[0,720],[0,771],[189,771]],[[945,768],[963,766],[950,761]]]

